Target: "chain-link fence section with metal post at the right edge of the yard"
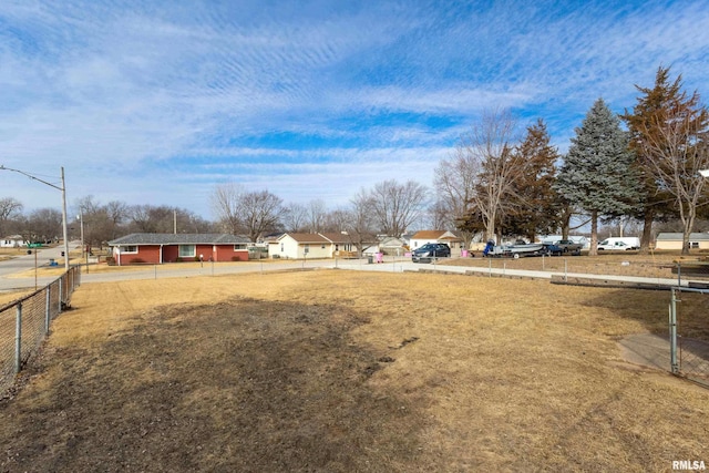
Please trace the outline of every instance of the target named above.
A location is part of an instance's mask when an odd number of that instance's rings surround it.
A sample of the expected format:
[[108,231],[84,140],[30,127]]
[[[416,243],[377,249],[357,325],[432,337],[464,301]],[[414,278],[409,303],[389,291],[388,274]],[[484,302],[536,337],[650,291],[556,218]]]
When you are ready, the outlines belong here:
[[686,319],[681,310],[682,292],[699,292],[709,297],[708,289],[672,288],[669,306],[670,370],[674,374],[709,388],[709,341],[691,338],[682,323]]

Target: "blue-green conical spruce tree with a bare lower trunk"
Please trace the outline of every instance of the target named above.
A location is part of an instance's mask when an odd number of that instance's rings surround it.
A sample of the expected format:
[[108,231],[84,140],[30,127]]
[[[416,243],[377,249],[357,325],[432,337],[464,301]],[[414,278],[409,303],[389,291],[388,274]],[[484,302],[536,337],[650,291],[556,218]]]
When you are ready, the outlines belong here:
[[596,255],[598,218],[628,215],[640,199],[628,134],[619,119],[598,99],[588,111],[558,174],[555,188],[590,215],[590,255]]

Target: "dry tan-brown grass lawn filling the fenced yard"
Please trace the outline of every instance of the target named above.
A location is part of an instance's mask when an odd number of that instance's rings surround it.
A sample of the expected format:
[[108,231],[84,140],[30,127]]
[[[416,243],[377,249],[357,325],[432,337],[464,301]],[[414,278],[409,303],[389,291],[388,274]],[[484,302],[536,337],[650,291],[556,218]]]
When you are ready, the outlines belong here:
[[[687,295],[688,312],[707,302]],[[320,270],[84,285],[2,471],[667,471],[706,390],[625,363],[666,292]],[[703,317],[687,321],[709,339]]]

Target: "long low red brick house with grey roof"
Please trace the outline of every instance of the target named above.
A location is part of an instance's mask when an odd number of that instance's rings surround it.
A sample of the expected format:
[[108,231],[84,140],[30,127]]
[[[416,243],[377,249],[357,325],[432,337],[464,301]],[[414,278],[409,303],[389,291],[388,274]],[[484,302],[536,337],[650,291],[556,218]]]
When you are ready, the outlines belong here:
[[131,234],[109,241],[116,265],[246,261],[248,239],[227,234]]

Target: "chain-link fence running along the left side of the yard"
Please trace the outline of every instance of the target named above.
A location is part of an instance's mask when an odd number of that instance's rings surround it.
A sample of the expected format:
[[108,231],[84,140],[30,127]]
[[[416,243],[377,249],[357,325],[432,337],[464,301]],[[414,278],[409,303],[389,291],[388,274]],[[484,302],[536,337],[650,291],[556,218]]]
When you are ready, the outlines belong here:
[[52,320],[71,306],[81,284],[79,266],[56,280],[6,306],[0,306],[0,397],[49,335]]

